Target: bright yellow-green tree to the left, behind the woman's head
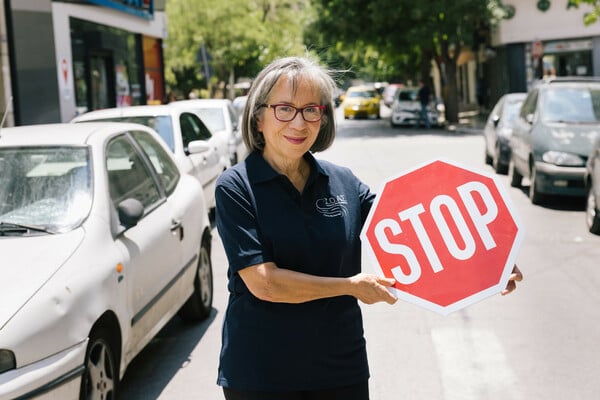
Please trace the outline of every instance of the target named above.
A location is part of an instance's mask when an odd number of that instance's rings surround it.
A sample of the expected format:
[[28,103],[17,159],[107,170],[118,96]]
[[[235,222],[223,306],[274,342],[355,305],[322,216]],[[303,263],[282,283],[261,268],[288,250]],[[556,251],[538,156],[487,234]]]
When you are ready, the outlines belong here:
[[[169,0],[165,75],[172,87],[178,76],[195,71],[195,84],[215,95],[236,76],[254,76],[276,57],[300,54],[308,0]],[[208,64],[208,65],[207,65]],[[233,79],[232,79],[233,78]]]

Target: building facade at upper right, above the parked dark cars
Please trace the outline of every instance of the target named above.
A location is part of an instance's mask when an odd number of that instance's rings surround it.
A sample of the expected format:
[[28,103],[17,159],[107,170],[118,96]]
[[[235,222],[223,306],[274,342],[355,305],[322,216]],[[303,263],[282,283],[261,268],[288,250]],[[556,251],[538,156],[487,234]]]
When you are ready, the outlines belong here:
[[508,18],[492,29],[480,67],[492,103],[527,91],[547,76],[600,75],[600,22],[585,26],[590,6],[569,0],[505,1]]

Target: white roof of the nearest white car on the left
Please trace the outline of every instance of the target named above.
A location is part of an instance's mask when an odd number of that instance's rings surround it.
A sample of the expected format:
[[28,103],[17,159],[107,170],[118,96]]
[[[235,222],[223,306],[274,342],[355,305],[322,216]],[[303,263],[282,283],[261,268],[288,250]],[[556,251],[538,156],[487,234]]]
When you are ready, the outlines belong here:
[[30,145],[86,145],[92,136],[110,136],[128,130],[149,131],[149,128],[121,122],[87,122],[85,124],[55,123],[23,125],[0,130],[0,147]]

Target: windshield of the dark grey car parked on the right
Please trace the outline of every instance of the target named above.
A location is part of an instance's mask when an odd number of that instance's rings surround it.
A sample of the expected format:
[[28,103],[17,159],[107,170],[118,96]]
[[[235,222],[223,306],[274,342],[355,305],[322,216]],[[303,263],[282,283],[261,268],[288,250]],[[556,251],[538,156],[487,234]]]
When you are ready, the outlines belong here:
[[544,96],[541,112],[545,122],[598,122],[600,87],[549,89]]

